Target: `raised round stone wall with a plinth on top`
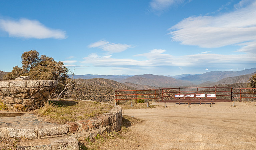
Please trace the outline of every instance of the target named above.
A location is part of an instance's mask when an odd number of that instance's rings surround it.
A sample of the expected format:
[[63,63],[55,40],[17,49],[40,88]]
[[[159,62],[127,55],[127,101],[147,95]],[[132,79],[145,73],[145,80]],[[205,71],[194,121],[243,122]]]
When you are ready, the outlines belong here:
[[57,84],[57,80],[0,81],[0,101],[8,108],[17,104],[36,108],[49,99]]

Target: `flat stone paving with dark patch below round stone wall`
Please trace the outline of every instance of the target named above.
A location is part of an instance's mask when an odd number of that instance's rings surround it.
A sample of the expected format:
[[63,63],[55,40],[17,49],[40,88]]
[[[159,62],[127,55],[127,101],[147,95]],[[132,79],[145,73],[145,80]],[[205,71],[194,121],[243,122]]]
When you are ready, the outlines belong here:
[[[8,115],[8,117],[6,117]],[[16,116],[10,116],[16,115]],[[0,111],[1,127],[36,127],[36,126],[54,126],[55,124],[46,122],[39,115],[30,112],[12,112]]]

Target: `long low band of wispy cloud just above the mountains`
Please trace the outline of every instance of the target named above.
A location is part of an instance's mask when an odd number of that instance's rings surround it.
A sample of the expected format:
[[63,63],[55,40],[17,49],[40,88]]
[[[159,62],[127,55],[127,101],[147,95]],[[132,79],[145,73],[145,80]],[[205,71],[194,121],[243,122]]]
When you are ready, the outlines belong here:
[[195,54],[184,56],[173,56],[162,53],[144,53],[137,54],[133,57],[146,57],[146,60],[139,61],[128,58],[107,58],[107,57],[85,57],[81,63],[92,64],[97,67],[159,67],[159,66],[177,66],[177,67],[196,67],[196,66],[219,66],[233,64],[256,63],[256,55],[237,54],[237,55],[220,55],[220,54]]

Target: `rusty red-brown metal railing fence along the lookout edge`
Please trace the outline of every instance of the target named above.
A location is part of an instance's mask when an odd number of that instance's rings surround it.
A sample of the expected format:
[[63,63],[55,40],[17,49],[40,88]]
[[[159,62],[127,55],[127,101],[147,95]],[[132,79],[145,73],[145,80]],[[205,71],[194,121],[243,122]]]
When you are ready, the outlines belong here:
[[[184,89],[186,89],[186,90],[184,90]],[[189,90],[189,89],[196,89],[196,90]],[[230,89],[230,90],[221,91],[221,89]],[[186,93],[187,94],[190,94],[190,93],[213,94],[214,93],[214,94],[216,94],[216,97],[220,97],[220,96],[221,97],[230,97],[231,101],[233,101],[233,98],[239,98],[241,101],[242,98],[256,98],[256,92],[247,92],[247,91],[243,92],[242,90],[255,90],[255,89],[256,88],[179,87],[179,88],[162,88],[162,89],[148,89],[148,90],[118,90],[118,91],[115,91],[115,102],[117,104],[117,101],[119,101],[119,100],[135,100],[135,103],[137,103],[138,99],[154,99],[155,102],[159,101],[159,99],[162,99],[162,101],[164,101],[164,99],[166,99],[166,98],[172,99],[173,97],[175,97],[174,93],[184,93],[184,94],[186,94]],[[147,91],[149,91],[149,92],[147,92]],[[236,91],[236,92],[234,92],[234,91]],[[117,94],[117,92],[118,92],[118,94]],[[123,92],[126,92],[126,93],[122,94]],[[127,92],[129,92],[129,93],[127,93]],[[130,92],[132,92],[132,93],[130,93]],[[147,93],[145,93],[145,92],[147,92]],[[255,94],[255,97],[250,96],[250,95],[243,96],[243,94]],[[147,96],[147,97],[145,97],[145,98],[137,97],[137,96],[142,96],[142,95]],[[125,98],[117,98],[117,97],[123,97],[123,96],[126,96],[126,97]],[[149,97],[149,96],[151,96],[151,97]]]

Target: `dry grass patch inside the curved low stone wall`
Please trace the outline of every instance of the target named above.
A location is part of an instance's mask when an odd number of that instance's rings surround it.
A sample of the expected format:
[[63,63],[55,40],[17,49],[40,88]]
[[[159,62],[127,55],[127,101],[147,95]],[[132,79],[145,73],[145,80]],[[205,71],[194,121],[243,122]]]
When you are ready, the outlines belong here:
[[79,100],[50,100],[37,113],[51,123],[65,124],[92,119],[108,112],[113,106],[99,102]]

